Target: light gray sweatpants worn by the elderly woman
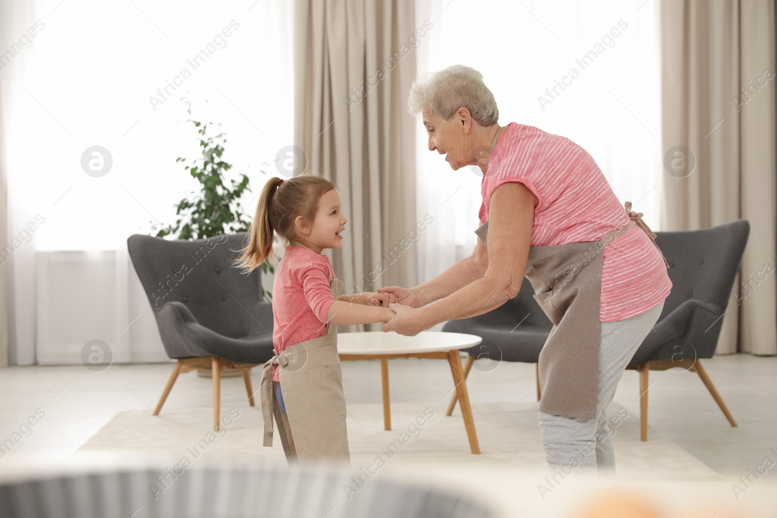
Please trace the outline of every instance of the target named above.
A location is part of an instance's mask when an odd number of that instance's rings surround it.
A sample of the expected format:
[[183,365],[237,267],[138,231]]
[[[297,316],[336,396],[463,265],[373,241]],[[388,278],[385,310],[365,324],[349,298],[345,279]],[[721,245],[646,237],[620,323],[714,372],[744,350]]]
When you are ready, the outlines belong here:
[[599,471],[615,471],[611,437],[615,435],[613,424],[619,424],[619,421],[614,417],[615,422],[608,422],[607,407],[615,396],[623,370],[653,329],[663,308],[664,301],[661,301],[639,315],[615,322],[601,322],[597,419],[539,412],[542,447],[551,471],[558,468],[566,474],[578,466],[582,467],[580,471],[595,471],[597,468]]

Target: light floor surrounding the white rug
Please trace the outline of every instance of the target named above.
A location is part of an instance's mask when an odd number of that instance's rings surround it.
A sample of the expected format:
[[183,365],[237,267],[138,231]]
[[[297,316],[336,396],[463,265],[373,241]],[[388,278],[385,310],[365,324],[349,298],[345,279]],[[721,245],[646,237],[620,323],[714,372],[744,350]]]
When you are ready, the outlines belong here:
[[[763,462],[770,447],[777,447],[777,357],[716,356],[704,365],[739,426],[729,426],[696,374],[667,370],[650,372],[650,427],[716,471],[743,475]],[[151,412],[172,366],[117,364],[101,373],[81,365],[0,370],[0,442],[37,408],[45,412],[30,436],[19,441],[6,457],[35,453],[63,459],[116,412],[142,408]],[[392,402],[447,405],[452,387],[448,363],[389,360],[389,374]],[[254,390],[259,388],[260,370],[253,370],[252,381]],[[377,360],[344,362],[343,384],[349,403],[382,401]],[[489,370],[473,367],[468,386],[472,402],[533,400],[535,368],[508,362]],[[615,395],[615,401],[635,416],[639,415],[638,388],[638,374],[629,370]],[[211,380],[189,373],[179,377],[165,408],[208,406],[211,402]],[[246,404],[242,377],[222,380],[222,408]]]

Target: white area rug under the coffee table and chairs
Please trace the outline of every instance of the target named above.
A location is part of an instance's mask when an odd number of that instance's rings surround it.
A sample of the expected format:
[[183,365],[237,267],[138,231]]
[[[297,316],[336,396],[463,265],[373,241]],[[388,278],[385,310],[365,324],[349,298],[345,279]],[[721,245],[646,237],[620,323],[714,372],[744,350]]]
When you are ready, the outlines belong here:
[[[530,402],[472,405],[479,455],[469,451],[458,406],[450,417],[444,415],[444,407],[435,407],[431,408],[434,415],[414,429],[416,418],[426,417],[423,405],[392,404],[392,430],[386,431],[382,405],[349,405],[347,424],[354,471],[374,465],[377,457],[381,457],[391,467],[389,471],[426,466],[455,471],[544,470],[547,473],[537,408]],[[618,478],[720,480],[716,471],[653,429],[650,429],[650,440],[640,441],[639,415],[629,415],[615,402],[608,415],[618,415],[618,411],[627,415],[615,427],[613,439]],[[212,408],[172,409],[162,410],[159,417],[148,411],[119,412],[75,456],[110,452],[151,458],[156,462],[169,461],[171,466],[183,457],[193,464],[234,461],[287,465],[277,430],[273,447],[262,446],[260,407],[222,408],[222,418],[230,412],[239,416],[230,426],[222,426],[218,436],[211,430],[212,412]],[[395,440],[399,443],[389,450]],[[197,444],[200,447],[196,448]]]

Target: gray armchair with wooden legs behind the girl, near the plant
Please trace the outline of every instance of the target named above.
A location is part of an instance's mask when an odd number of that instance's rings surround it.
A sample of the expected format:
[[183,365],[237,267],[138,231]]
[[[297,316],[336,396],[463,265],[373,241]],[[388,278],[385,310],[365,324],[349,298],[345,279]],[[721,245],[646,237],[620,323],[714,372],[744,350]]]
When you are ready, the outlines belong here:
[[232,266],[245,237],[127,238],[167,356],[178,360],[154,415],[178,374],[195,369],[212,370],[214,429],[219,429],[221,370],[242,370],[249,404],[255,405],[249,369],[274,354],[273,308],[262,300],[260,269],[246,275]]

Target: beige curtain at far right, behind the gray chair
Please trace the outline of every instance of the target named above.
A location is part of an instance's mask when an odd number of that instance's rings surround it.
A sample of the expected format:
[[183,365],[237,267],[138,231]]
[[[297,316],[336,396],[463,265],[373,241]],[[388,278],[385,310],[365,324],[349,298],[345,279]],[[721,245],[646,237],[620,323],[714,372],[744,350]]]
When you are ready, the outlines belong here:
[[663,149],[696,161],[664,174],[662,228],[751,224],[717,353],[777,353],[775,59],[774,0],[661,2]]

